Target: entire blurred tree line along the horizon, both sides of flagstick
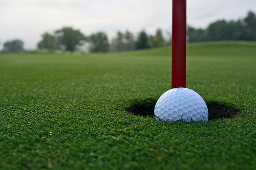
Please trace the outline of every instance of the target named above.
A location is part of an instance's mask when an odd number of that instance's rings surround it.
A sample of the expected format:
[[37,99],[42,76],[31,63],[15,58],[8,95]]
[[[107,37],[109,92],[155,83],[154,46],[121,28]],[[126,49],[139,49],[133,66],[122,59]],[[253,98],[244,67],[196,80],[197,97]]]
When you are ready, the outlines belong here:
[[[216,41],[216,40],[256,40],[256,15],[249,11],[247,16],[239,20],[218,20],[210,23],[206,29],[195,29],[187,26],[187,42]],[[171,36],[164,39],[161,29],[154,35],[148,35],[142,30],[135,36],[129,30],[117,31],[109,40],[105,32],[96,32],[90,36],[72,27],[63,27],[53,34],[45,32],[37,43],[38,49],[78,51],[86,46],[91,53],[121,52],[160,47],[171,44]],[[19,39],[4,43],[2,53],[24,51],[24,42]]]

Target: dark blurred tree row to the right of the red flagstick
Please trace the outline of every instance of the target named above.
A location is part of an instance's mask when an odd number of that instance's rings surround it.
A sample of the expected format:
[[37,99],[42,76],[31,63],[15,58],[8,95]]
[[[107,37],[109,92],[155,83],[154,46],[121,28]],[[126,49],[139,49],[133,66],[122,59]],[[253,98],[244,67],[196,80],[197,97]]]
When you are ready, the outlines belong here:
[[223,40],[256,40],[256,15],[248,12],[238,20],[218,20],[204,29],[187,27],[187,42],[223,41]]

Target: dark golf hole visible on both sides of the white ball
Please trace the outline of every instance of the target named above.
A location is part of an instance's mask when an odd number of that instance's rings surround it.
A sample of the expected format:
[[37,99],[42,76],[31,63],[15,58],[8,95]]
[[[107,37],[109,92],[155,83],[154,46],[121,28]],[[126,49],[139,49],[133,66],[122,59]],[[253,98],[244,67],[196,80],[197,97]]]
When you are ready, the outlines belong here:
[[[132,105],[125,110],[134,115],[144,117],[155,117],[154,109],[157,100],[144,99],[133,101]],[[208,107],[209,120],[233,118],[241,113],[241,110],[235,109],[232,105],[226,103],[219,103],[217,101],[206,101]]]

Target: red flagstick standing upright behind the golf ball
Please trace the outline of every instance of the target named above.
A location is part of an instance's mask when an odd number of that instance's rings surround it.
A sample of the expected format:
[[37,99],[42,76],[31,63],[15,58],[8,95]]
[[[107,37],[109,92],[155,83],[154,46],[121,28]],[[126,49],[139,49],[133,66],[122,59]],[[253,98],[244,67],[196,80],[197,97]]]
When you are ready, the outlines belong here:
[[186,0],[173,0],[172,88],[186,87]]

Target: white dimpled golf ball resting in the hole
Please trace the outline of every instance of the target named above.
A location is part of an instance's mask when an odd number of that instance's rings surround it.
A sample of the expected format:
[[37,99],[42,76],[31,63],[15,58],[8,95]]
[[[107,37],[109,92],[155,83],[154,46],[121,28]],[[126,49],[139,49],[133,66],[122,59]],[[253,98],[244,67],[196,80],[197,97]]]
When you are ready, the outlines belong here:
[[183,87],[163,93],[156,103],[154,113],[164,120],[208,120],[208,108],[203,98],[197,92]]

